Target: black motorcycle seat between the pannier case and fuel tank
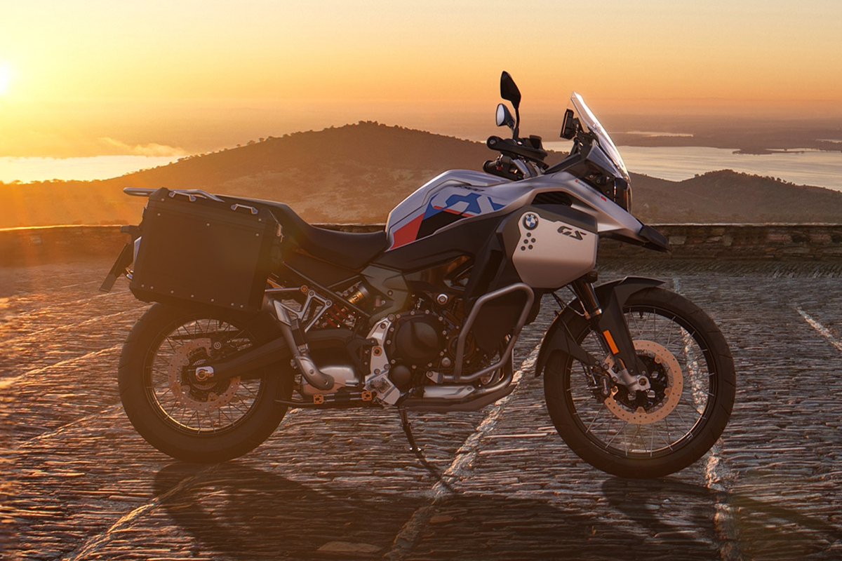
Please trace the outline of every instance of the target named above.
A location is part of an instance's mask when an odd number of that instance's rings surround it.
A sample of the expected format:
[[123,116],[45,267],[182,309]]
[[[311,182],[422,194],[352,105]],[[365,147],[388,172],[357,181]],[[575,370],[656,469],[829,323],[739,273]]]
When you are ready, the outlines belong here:
[[289,205],[244,198],[254,204],[271,209],[274,217],[284,229],[285,240],[294,241],[307,253],[340,267],[359,271],[368,262],[380,255],[388,245],[385,231],[341,232],[307,224]]

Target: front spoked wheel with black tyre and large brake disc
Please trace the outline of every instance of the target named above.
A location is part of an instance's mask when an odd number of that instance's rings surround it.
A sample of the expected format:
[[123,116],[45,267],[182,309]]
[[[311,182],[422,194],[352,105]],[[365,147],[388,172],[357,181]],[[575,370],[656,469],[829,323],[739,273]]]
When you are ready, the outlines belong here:
[[[698,306],[647,288],[623,307],[651,389],[629,393],[562,352],[546,368],[546,405],[574,453],[626,478],[672,474],[701,458],[722,435],[735,395],[733,359],[717,326]],[[585,320],[568,325],[594,357],[605,357]]]

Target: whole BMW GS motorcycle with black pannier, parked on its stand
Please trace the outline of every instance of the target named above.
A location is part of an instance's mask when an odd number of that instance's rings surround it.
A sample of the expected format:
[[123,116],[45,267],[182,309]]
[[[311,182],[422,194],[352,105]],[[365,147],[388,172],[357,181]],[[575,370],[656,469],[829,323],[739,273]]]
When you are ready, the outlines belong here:
[[[510,394],[513,352],[541,304],[558,306],[538,352],[558,434],[624,478],[672,474],[721,436],[733,358],[698,306],[651,278],[596,284],[600,237],[669,251],[632,216],[630,177],[573,93],[555,165],[520,137],[507,72],[499,152],[482,172],[442,173],[384,231],[310,224],[287,205],[201,190],[148,197],[103,289],[125,274],[152,302],[120,356],[131,423],[163,453],[215,463],[248,453],[289,408],[473,411]],[[570,293],[564,298],[564,288]]]

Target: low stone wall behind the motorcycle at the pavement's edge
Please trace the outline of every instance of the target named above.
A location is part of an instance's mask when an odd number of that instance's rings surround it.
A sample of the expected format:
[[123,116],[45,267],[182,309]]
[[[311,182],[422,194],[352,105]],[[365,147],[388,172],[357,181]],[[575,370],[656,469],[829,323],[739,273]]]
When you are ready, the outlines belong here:
[[[326,225],[347,231],[383,225]],[[620,241],[600,241],[600,257],[842,262],[842,225],[654,225],[673,251],[658,253]],[[128,236],[119,226],[51,226],[0,230],[0,267],[117,257]]]

